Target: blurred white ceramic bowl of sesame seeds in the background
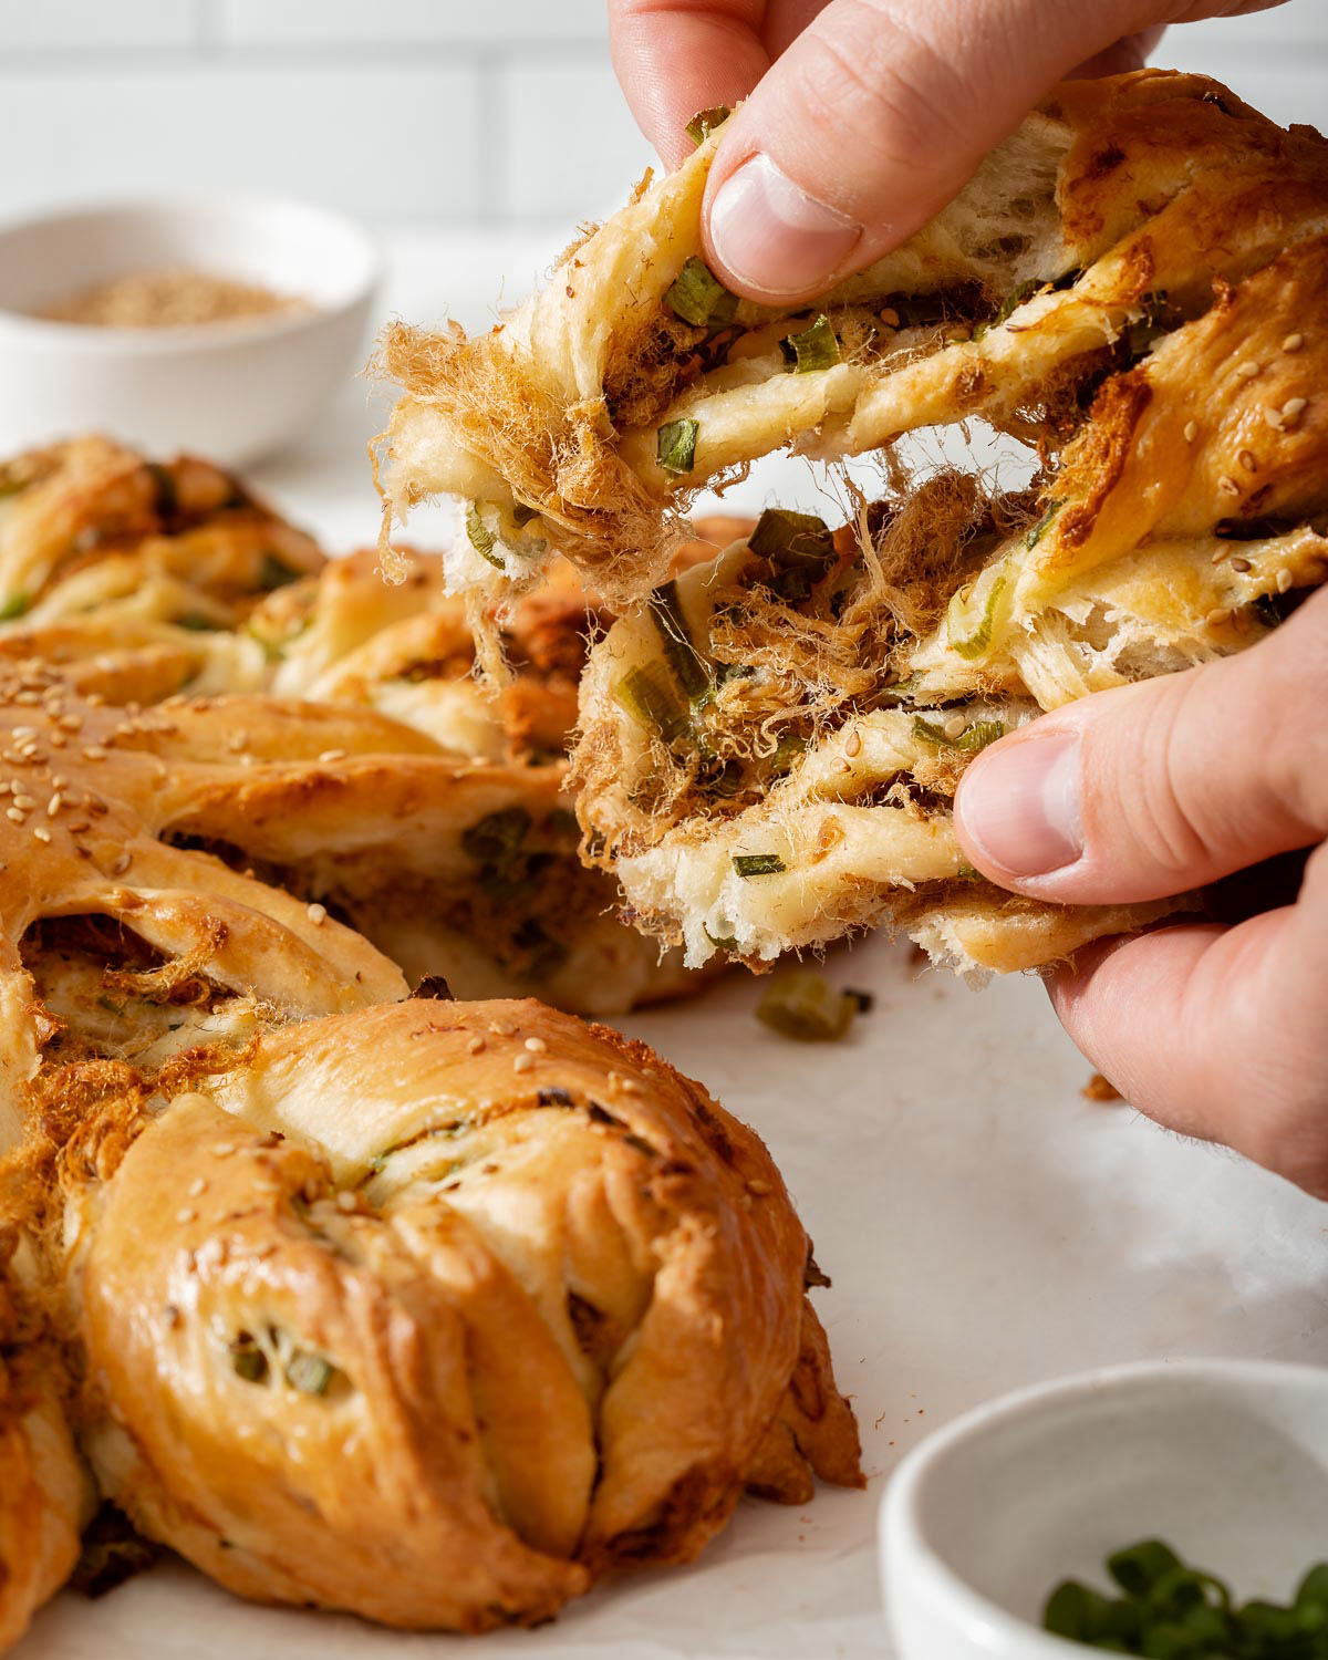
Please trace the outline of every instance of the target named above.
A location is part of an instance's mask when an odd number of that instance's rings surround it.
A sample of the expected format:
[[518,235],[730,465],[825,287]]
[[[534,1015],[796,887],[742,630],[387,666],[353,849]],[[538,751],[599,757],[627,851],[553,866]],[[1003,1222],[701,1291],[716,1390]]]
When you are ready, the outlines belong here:
[[[32,310],[133,271],[189,266],[310,310],[179,329]],[[0,455],[93,428],[231,466],[297,437],[362,367],[372,239],[307,203],[216,196],[83,208],[0,226]]]

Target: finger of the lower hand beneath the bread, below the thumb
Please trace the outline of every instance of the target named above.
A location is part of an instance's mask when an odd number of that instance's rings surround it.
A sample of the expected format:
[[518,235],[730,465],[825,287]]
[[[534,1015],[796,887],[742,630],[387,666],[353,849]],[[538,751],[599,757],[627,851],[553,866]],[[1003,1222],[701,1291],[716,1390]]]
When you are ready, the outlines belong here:
[[1187,925],[1081,951],[1056,1013],[1140,1112],[1328,1197],[1328,867],[1238,928]]

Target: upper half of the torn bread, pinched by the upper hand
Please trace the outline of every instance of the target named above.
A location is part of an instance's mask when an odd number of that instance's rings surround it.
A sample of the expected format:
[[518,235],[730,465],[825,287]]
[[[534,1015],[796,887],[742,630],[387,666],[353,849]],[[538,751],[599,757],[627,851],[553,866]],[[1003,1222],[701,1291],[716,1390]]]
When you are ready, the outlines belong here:
[[702,262],[717,143],[493,330],[383,337],[402,387],[377,455],[385,536],[455,496],[453,591],[530,586],[563,553],[621,608],[666,574],[699,488],[784,447],[833,460],[979,415],[1054,450],[1092,385],[1207,310],[1215,279],[1328,231],[1316,133],[1204,76],[1139,71],[1057,86],[916,236],[780,312]]

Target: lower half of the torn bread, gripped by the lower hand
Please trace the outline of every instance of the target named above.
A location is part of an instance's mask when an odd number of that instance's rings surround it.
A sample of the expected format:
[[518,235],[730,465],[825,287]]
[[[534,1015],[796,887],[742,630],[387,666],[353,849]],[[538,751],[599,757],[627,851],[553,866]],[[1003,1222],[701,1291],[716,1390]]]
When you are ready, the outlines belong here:
[[767,511],[591,654],[586,852],[639,928],[770,961],[860,928],[1033,968],[1179,908],[1059,908],[964,865],[958,780],[1086,692],[1263,639],[1328,573],[1328,237],[1109,375],[1038,488]]

